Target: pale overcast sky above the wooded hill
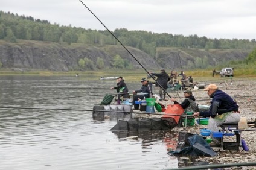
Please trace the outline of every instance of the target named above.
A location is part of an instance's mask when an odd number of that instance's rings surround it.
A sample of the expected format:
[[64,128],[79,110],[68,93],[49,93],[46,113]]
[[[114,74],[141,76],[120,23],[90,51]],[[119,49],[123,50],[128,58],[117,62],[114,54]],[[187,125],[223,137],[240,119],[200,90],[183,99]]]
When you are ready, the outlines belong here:
[[[256,38],[255,0],[81,0],[110,30]],[[0,0],[0,10],[51,24],[106,30],[79,0]]]

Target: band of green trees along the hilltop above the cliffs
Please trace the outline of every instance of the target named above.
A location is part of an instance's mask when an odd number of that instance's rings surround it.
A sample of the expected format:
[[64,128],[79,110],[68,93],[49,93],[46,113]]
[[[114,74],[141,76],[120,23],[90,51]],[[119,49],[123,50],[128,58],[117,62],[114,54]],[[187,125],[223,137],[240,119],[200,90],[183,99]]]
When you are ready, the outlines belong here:
[[[123,45],[138,48],[152,57],[158,47],[205,49],[254,49],[255,39],[208,39],[190,35],[188,37],[148,31],[128,31],[126,28],[113,31]],[[81,27],[50,24],[47,20],[31,16],[0,11],[0,39],[16,42],[17,39],[48,41],[71,45],[71,43],[118,45],[117,40],[107,30],[91,30]]]

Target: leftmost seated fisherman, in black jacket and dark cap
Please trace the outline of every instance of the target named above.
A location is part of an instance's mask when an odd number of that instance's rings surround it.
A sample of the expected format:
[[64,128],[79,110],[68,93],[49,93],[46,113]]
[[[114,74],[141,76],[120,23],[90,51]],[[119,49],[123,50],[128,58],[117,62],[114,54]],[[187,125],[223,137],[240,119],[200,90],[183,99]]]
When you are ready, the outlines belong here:
[[117,87],[111,87],[110,89],[117,89],[117,104],[121,104],[121,96],[123,96],[123,98],[129,98],[128,87],[121,76],[117,78]]

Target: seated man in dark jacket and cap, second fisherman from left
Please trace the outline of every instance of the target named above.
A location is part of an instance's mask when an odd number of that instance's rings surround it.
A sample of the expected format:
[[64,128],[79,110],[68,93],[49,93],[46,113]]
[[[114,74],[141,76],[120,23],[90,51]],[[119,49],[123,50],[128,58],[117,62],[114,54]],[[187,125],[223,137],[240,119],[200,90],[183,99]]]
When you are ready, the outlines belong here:
[[[138,99],[152,98],[152,95],[153,95],[152,84],[150,86],[150,82],[147,81],[146,78],[142,78],[141,83],[142,83],[141,89],[133,91],[133,105],[135,110],[139,109],[139,104],[135,104],[135,101],[138,101]],[[137,95],[137,93],[141,93],[141,94]]]

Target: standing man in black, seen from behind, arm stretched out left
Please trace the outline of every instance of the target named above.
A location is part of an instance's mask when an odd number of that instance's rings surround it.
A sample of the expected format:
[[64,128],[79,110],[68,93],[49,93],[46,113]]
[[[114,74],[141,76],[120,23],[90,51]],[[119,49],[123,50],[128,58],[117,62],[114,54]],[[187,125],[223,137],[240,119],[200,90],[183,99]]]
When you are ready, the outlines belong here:
[[[167,90],[167,83],[168,81],[171,80],[170,76],[165,72],[164,69],[160,70],[160,73],[154,73],[150,72],[150,74],[155,75],[156,77],[156,87],[159,87],[159,95],[160,95],[160,100],[165,100],[165,91]],[[163,90],[160,86],[165,90]]]

